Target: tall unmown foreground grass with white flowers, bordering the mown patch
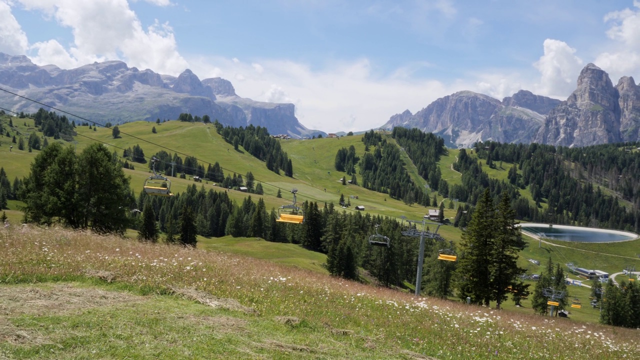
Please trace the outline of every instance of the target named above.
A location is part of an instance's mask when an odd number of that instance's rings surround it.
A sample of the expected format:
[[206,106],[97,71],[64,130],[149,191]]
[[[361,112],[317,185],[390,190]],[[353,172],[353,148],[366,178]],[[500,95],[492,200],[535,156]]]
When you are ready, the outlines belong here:
[[[295,331],[273,326],[268,336],[286,336],[289,345],[305,352],[291,354],[287,352],[290,346],[284,352],[269,353],[272,357],[637,359],[639,354],[634,341],[637,331],[630,329],[416,298],[214,251],[138,243],[57,227],[12,225],[0,230],[1,286],[82,281],[90,276],[87,274],[99,272],[112,274],[116,283],[140,293],[170,293],[172,287],[189,287],[236,299],[257,310],[260,315],[256,316],[264,322],[275,322],[278,316],[300,319],[303,325]],[[207,334],[189,336],[196,339]],[[235,341],[257,343],[254,332],[235,336]],[[143,351],[140,345],[130,346]],[[1,343],[0,349],[9,356],[17,351]],[[56,351],[55,357],[60,358],[73,354],[73,350]]]

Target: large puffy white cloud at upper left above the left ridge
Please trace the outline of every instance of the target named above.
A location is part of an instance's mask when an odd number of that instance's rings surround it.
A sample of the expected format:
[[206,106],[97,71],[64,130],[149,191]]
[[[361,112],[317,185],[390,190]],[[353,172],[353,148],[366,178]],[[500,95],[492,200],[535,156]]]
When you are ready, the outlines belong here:
[[[173,29],[157,21],[144,29],[126,0],[19,1],[27,10],[43,12],[61,26],[70,28],[74,38],[68,49],[53,39],[34,44],[36,63],[61,61],[61,66],[77,66],[93,61],[124,60],[130,66],[172,75],[187,67],[177,51]],[[163,0],[152,3],[169,4]]]

